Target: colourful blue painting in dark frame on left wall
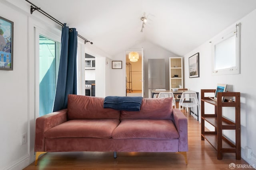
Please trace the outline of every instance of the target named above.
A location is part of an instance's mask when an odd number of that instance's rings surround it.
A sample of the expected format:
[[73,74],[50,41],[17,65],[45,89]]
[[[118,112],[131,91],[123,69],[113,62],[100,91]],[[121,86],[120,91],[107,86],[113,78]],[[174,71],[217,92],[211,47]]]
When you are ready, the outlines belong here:
[[13,22],[1,16],[0,70],[13,70]]

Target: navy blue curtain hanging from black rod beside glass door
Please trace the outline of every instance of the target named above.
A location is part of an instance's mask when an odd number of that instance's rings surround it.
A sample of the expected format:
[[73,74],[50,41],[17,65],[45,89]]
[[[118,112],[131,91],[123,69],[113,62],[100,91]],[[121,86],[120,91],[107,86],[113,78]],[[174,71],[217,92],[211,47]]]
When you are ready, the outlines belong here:
[[64,23],[62,27],[60,66],[53,111],[66,109],[68,94],[77,94],[76,52],[76,28],[69,28]]

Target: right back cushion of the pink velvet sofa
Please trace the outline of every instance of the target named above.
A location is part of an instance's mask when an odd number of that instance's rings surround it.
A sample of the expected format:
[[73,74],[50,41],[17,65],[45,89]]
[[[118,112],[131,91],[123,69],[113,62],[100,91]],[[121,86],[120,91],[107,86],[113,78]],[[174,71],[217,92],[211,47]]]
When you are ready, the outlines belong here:
[[171,119],[172,98],[143,98],[140,111],[121,111],[120,119]]

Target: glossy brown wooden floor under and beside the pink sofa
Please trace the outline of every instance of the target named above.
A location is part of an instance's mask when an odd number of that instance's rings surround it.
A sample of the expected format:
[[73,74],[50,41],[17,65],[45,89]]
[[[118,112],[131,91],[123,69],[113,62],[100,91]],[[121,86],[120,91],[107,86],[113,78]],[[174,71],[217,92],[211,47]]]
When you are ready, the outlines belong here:
[[[170,152],[55,152],[46,153],[24,170],[230,170],[229,164],[247,164],[236,160],[234,153],[223,154],[217,160],[216,150],[201,141],[200,124],[191,115],[188,117],[188,165],[181,154]],[[242,168],[246,170],[246,168]]]

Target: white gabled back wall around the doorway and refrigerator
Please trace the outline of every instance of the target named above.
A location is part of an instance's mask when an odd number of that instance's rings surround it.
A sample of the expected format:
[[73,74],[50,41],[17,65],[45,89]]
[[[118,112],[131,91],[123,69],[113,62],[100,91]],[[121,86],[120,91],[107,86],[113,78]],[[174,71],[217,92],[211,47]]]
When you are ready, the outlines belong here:
[[[141,47],[144,49],[144,92],[145,98],[148,98],[148,59],[165,59],[165,78],[166,78],[166,90],[169,89],[169,57],[178,57],[174,53],[171,53],[170,51],[167,51],[166,49],[163,49],[162,47],[159,47],[158,45],[155,45],[153,43],[150,43],[149,41],[144,41],[141,43],[138,43],[131,47],[129,50],[137,49],[138,51],[141,50]],[[122,60],[122,68],[123,69],[112,69],[111,74],[115,75],[111,78],[111,95],[112,96],[125,96],[126,92],[126,71],[124,68],[126,68],[125,62],[126,62],[126,53],[125,51],[118,53],[114,56],[113,60]]]

